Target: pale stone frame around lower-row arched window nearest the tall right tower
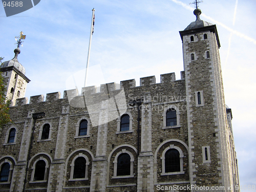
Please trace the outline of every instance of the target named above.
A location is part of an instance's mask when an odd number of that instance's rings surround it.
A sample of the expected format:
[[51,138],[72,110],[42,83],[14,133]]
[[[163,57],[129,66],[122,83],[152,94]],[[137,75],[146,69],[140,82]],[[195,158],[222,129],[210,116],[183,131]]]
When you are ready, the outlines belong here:
[[[165,172],[165,154],[168,150],[170,149],[175,149],[180,153],[180,172]],[[180,174],[185,174],[183,170],[183,158],[184,154],[181,150],[180,147],[175,146],[174,144],[170,144],[168,147],[165,148],[165,150],[162,153],[161,160],[162,160],[162,173],[161,176],[166,176],[166,175],[180,175]]]

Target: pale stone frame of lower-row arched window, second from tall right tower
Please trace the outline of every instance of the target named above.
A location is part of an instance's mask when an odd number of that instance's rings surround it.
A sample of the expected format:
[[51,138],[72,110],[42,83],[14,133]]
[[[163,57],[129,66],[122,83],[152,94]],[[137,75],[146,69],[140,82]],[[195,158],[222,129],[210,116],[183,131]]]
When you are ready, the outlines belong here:
[[[130,155],[130,158],[131,158],[131,160],[130,160],[130,162],[131,162],[131,164],[130,164],[130,175],[117,176],[117,163],[118,163],[117,160],[118,160],[118,157],[121,154],[124,154],[124,153]],[[114,163],[114,173],[113,173],[112,179],[133,178],[134,177],[134,156],[133,156],[133,154],[130,151],[128,151],[126,149],[122,149],[120,152],[118,152],[116,154],[113,163]]]

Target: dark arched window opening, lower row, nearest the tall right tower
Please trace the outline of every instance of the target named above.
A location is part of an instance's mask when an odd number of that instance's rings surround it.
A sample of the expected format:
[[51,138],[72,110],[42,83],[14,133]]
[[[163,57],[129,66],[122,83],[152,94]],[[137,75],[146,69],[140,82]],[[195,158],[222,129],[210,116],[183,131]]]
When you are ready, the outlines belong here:
[[180,153],[171,148],[165,153],[165,173],[180,172]]

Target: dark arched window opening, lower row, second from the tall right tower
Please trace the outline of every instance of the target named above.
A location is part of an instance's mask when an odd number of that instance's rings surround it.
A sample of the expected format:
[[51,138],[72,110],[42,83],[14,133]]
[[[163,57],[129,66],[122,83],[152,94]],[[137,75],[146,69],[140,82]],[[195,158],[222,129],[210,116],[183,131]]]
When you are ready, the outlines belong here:
[[131,175],[131,157],[127,153],[119,155],[117,159],[117,176]]

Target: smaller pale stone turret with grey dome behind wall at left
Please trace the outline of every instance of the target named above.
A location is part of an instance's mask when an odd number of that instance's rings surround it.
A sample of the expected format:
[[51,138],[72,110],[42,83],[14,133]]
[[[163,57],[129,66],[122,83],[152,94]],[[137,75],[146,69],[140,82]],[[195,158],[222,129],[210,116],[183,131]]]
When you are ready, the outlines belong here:
[[14,50],[13,59],[5,61],[1,64],[1,72],[6,83],[6,97],[11,100],[11,106],[15,105],[16,99],[25,97],[27,83],[30,81],[26,77],[26,70],[18,62],[19,48]]

